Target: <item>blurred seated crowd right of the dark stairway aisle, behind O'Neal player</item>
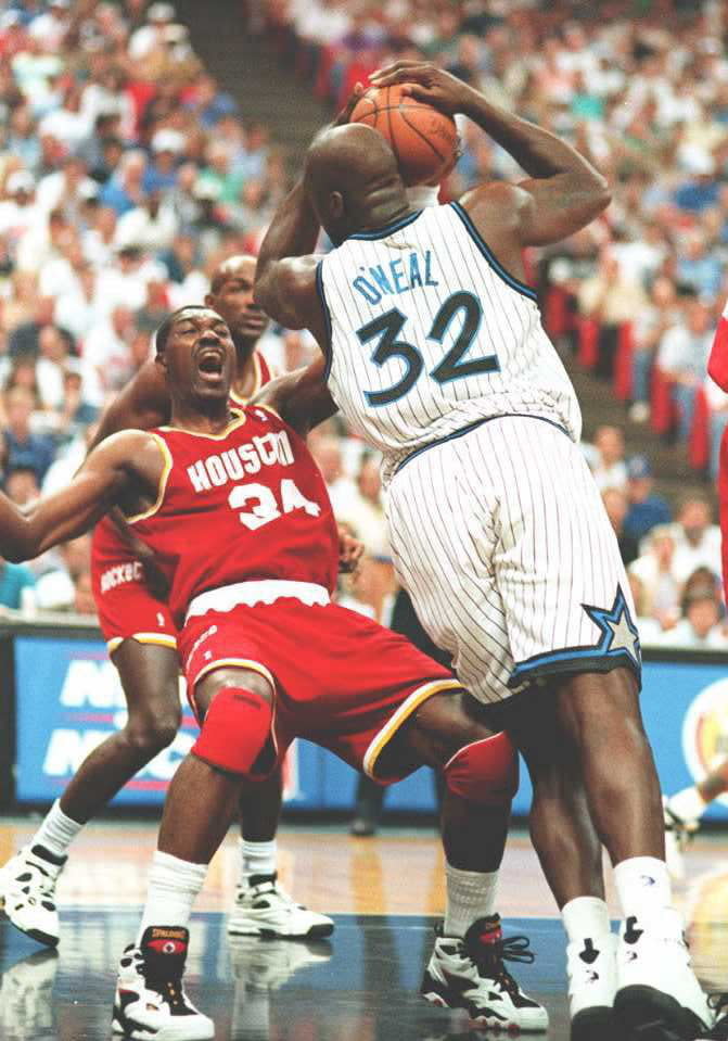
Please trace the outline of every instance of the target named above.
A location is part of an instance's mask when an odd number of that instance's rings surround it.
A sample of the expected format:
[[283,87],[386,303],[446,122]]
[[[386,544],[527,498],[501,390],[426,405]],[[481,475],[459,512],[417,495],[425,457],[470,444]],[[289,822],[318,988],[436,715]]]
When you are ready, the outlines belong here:
[[[728,9],[717,0],[265,0],[256,25],[310,89],[341,106],[397,60],[434,61],[572,141],[609,178],[605,214],[526,257],[547,328],[604,380],[630,423],[717,472],[728,395],[706,377],[728,295]],[[468,120],[440,190],[518,179]],[[642,642],[728,647],[712,497],[675,512],[649,458],[604,427],[587,459],[617,534]]]

